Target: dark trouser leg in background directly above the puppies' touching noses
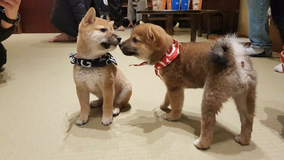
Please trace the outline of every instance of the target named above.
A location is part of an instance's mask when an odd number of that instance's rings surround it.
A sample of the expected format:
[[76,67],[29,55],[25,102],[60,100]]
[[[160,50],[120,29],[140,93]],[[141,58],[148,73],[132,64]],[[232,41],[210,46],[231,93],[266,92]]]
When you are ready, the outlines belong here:
[[121,4],[120,4],[120,0],[111,0],[108,1],[109,3],[109,17],[110,20],[114,21],[114,25],[116,25],[117,27],[120,27],[123,25],[123,17],[122,17],[122,13],[121,13]]

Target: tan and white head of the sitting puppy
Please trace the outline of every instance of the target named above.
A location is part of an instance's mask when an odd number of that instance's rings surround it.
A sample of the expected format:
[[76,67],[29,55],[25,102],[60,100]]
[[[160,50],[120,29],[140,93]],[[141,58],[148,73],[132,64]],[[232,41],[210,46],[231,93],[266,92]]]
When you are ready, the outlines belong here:
[[113,23],[96,17],[95,9],[90,8],[79,25],[79,36],[91,49],[112,51],[121,40],[120,36],[114,34]]

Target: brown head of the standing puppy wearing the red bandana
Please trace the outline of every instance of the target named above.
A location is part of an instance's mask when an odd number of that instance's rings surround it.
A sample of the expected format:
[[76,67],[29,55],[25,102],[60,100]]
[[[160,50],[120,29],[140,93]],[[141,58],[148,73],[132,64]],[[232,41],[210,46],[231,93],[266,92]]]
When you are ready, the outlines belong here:
[[132,29],[130,37],[119,47],[124,55],[149,61],[156,52],[164,50],[167,33],[157,25],[143,23]]

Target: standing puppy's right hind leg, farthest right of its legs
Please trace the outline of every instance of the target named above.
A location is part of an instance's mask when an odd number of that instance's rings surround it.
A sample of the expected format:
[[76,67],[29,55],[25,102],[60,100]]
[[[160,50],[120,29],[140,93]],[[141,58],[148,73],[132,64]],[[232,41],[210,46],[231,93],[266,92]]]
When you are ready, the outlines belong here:
[[241,145],[248,145],[251,140],[252,125],[255,111],[255,89],[234,97],[241,120],[241,134],[235,136],[235,141]]

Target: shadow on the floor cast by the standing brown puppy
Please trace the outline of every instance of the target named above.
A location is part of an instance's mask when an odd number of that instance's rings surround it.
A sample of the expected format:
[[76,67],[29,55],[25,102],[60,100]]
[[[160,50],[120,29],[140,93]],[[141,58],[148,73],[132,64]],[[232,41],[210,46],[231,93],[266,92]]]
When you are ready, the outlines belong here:
[[[166,113],[170,113],[171,110],[169,108],[166,108],[163,109],[163,111]],[[155,143],[156,141],[167,135],[167,132],[173,132],[179,135],[190,136],[190,137],[193,134],[194,139],[198,139],[201,129],[200,114],[183,111],[181,119],[179,121],[166,121],[161,118],[164,117],[166,113],[161,113],[161,112],[162,111],[159,111],[159,109],[154,109],[153,111],[136,110],[136,113],[128,117],[125,117],[123,119],[118,119],[116,123],[135,127],[131,131],[131,133],[136,136],[146,137],[147,144]],[[154,113],[154,116],[149,116],[149,114],[151,113],[152,115]],[[159,129],[161,127],[167,127],[167,130],[165,131],[165,129],[163,129],[162,132],[158,133],[159,136],[156,136],[157,133],[152,134],[152,132],[158,132],[156,131],[156,129]],[[141,129],[143,129],[144,134],[141,134]],[[212,145],[214,146],[214,148],[216,147],[217,149],[209,149],[207,151],[226,154],[226,155],[227,154],[233,155],[256,149],[256,145],[253,142],[251,142],[251,144],[247,146],[241,146],[238,143],[236,143],[234,141],[234,137],[237,134],[238,133],[232,132],[222,124],[216,122],[213,139],[212,139]],[[236,148],[236,150],[228,152],[228,150],[221,149],[222,148],[221,146],[224,145],[225,141],[230,141],[230,143],[233,143],[240,147]],[[193,141],[192,144],[189,145],[193,145]]]

